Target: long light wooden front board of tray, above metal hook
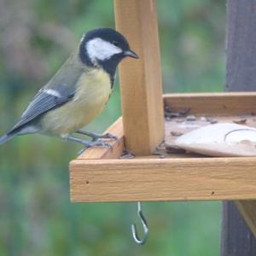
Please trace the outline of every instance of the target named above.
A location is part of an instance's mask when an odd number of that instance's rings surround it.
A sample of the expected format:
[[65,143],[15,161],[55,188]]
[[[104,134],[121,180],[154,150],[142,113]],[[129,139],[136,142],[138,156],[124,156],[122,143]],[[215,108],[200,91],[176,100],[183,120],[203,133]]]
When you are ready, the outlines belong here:
[[72,201],[256,198],[256,158],[73,160],[70,170]]

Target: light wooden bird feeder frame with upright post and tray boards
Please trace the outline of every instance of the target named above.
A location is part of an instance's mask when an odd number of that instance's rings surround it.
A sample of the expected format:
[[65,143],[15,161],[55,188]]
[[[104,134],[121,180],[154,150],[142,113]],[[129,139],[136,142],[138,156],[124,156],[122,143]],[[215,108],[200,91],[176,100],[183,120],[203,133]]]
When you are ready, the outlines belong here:
[[[111,142],[112,149],[89,148],[70,163],[71,201],[236,201],[256,236],[256,202],[249,201],[256,199],[256,158],[165,154],[162,159],[152,154],[164,138],[173,140],[175,121],[164,119],[164,104],[232,122],[256,113],[256,93],[162,96],[154,1],[115,0],[114,9],[117,30],[140,59],[127,59],[119,68],[123,117],[107,131],[119,142]],[[120,158],[123,148],[136,157]]]

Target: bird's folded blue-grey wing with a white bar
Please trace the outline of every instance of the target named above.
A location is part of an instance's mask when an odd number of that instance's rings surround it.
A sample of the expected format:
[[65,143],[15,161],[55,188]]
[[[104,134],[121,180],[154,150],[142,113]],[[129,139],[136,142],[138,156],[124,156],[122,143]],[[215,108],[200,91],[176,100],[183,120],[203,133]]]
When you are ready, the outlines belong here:
[[53,90],[43,87],[27,106],[24,113],[22,113],[20,121],[12,128],[11,131],[9,131],[9,133],[38,118],[41,114],[69,102],[73,99],[73,96],[74,88],[70,90],[67,86],[60,86],[58,90]]

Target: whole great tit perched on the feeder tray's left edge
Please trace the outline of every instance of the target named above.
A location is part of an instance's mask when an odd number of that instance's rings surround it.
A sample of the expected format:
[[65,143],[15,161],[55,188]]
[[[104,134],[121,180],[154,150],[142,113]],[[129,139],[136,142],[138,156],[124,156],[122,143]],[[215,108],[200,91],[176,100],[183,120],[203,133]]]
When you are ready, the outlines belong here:
[[[40,133],[82,143],[84,148],[107,146],[98,138],[115,138],[80,131],[102,112],[113,89],[116,68],[126,56],[138,58],[123,35],[111,28],[86,32],[79,47],[57,73],[32,99],[20,120],[3,137],[0,144],[16,135]],[[86,141],[69,136],[78,132]]]

